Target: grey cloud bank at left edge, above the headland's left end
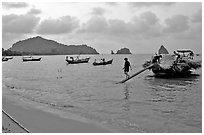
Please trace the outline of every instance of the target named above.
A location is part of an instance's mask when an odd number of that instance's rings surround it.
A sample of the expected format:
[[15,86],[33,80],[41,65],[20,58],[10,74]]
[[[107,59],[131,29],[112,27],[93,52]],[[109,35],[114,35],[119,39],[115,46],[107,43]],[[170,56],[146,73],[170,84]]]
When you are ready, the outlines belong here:
[[4,15],[2,17],[2,32],[26,34],[32,33],[40,18],[33,15]]

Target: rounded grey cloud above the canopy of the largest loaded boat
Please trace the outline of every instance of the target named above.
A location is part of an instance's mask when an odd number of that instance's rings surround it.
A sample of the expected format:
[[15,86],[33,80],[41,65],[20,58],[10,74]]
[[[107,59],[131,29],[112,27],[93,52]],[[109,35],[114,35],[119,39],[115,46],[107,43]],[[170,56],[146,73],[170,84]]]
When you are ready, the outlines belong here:
[[163,29],[164,33],[181,33],[189,29],[189,18],[184,15],[174,15],[165,20],[166,27]]

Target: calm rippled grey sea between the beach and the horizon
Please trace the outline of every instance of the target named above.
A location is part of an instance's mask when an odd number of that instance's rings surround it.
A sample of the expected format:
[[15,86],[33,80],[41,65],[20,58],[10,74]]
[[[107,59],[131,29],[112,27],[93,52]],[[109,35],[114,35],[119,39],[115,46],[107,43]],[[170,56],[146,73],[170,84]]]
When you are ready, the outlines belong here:
[[[40,62],[23,63],[15,57],[2,63],[3,97],[69,112],[120,132],[202,132],[201,69],[176,79],[155,78],[145,71],[116,84],[125,77],[125,57],[133,74],[151,56],[91,55],[89,63],[77,65],[67,65],[65,56],[42,57]],[[113,58],[113,64],[92,66],[100,58]]]

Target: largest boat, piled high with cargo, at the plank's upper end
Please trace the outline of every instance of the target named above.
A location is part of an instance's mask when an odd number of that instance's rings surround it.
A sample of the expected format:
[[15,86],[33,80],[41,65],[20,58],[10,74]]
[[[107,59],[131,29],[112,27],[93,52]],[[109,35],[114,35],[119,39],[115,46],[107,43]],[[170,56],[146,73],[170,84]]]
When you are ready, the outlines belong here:
[[[201,61],[193,60],[193,51],[177,50],[175,54],[162,54],[159,61],[146,61],[143,67],[152,64],[150,70],[156,77],[184,77],[201,67]],[[179,56],[179,57],[178,57]]]

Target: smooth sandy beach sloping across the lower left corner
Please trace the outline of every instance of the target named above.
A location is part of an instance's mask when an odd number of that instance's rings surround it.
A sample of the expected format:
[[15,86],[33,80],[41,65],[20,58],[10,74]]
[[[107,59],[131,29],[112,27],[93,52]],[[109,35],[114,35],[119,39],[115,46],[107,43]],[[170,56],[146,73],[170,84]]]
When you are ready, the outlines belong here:
[[[2,108],[30,133],[110,133],[107,129],[44,112],[35,108],[24,108],[7,100],[2,101]],[[2,112],[2,132],[26,132]]]

